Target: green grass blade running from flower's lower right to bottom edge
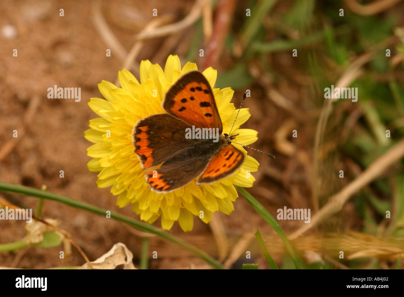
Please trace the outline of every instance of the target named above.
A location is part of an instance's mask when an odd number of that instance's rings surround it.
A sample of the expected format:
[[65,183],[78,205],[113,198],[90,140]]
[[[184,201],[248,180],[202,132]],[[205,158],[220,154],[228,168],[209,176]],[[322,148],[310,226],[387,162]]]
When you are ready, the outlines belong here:
[[279,237],[282,239],[286,249],[288,250],[290,256],[292,257],[293,262],[295,263],[295,266],[297,269],[300,269],[299,262],[297,261],[296,255],[293,252],[292,246],[290,245],[290,242],[288,238],[286,237],[285,232],[283,232],[282,228],[272,217],[272,215],[265,209],[264,206],[262,206],[261,203],[257,201],[250,193],[248,193],[244,188],[236,186],[237,190],[247,199],[248,203],[252,206],[252,208],[278,233]]

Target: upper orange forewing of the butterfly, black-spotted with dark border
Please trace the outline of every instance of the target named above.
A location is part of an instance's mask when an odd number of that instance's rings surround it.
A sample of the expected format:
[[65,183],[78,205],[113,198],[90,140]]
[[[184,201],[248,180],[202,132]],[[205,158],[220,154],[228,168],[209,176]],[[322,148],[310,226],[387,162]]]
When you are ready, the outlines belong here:
[[166,93],[163,108],[199,128],[219,128],[222,122],[212,88],[204,75],[191,71],[181,76]]

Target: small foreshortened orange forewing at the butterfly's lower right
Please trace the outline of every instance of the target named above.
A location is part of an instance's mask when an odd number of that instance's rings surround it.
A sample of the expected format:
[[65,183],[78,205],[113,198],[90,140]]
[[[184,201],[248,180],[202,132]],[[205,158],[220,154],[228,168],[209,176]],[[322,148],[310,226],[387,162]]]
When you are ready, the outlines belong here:
[[243,161],[243,152],[234,147],[234,145],[226,145],[213,156],[197,183],[211,183],[227,177],[231,175],[231,173],[234,173],[234,171],[241,166]]

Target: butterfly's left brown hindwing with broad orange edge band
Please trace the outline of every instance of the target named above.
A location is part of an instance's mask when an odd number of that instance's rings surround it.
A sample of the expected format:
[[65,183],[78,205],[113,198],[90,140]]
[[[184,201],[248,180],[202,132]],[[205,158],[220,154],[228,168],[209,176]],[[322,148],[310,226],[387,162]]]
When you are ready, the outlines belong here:
[[139,120],[133,129],[133,144],[143,168],[169,160],[185,150],[191,139],[185,138],[190,126],[170,114],[154,114]]

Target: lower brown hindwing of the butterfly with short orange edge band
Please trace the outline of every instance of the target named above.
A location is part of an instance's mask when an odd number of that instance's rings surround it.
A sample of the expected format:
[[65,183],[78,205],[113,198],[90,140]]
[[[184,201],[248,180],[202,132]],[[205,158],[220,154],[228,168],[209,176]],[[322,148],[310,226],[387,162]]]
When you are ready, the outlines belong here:
[[[192,150],[192,149],[189,149]],[[209,162],[206,156],[189,158],[187,152],[164,162],[159,169],[146,173],[147,183],[158,193],[171,192],[196,179]]]

